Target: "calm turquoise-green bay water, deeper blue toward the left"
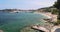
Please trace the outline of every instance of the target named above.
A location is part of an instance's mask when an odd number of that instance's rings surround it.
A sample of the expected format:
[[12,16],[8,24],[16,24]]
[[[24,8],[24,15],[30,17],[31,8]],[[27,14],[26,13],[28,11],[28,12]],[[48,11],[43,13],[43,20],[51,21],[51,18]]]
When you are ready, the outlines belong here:
[[32,24],[41,24],[42,19],[46,18],[41,14],[34,13],[7,13],[0,12],[0,30],[4,32],[20,32],[24,27]]

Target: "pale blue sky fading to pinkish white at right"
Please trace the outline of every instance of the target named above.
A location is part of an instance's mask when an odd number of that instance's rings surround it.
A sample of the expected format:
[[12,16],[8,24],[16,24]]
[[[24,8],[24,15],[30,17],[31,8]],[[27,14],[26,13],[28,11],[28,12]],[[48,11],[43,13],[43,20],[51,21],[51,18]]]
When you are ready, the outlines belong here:
[[49,7],[56,0],[0,0],[0,9],[38,9]]

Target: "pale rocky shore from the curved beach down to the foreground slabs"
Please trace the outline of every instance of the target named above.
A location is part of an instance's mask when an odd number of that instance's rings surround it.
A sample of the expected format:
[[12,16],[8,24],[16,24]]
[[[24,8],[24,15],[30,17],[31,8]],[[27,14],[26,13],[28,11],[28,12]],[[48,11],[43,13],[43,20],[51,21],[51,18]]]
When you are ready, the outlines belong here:
[[[49,12],[34,12],[34,13],[37,13],[37,14],[42,14],[43,16],[46,16],[46,17],[48,17],[47,19],[43,19],[43,20],[45,20],[46,21],[46,25],[44,25],[42,28],[41,28],[41,26],[39,26],[39,25],[35,25],[35,26],[33,26],[32,28],[34,28],[34,29],[37,29],[37,30],[41,30],[42,29],[42,31],[45,31],[45,32],[52,32],[52,28],[53,28],[53,30],[56,30],[54,27],[54,24],[51,24],[51,23],[49,23],[49,22],[56,22],[57,21],[57,15],[55,15],[55,14],[51,14],[51,13],[49,13]],[[60,27],[60,26],[59,26]],[[44,30],[45,29],[45,30]]]

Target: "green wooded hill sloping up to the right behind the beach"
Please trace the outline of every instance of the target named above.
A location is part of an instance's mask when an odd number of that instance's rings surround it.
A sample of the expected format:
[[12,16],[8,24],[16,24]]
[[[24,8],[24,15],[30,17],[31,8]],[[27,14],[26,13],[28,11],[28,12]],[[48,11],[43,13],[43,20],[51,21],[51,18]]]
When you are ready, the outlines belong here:
[[40,9],[37,9],[37,11],[39,11],[39,12],[51,12],[52,14],[58,14],[58,9],[56,9],[53,6],[40,8]]

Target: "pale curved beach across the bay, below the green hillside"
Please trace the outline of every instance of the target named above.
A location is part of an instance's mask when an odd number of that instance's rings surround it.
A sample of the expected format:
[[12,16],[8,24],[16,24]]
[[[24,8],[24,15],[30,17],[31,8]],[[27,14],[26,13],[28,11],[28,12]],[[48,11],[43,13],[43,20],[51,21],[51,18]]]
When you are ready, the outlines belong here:
[[35,14],[41,14],[46,16],[46,20],[50,20],[50,22],[57,22],[57,15],[52,14],[51,12],[34,12]]

